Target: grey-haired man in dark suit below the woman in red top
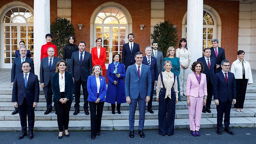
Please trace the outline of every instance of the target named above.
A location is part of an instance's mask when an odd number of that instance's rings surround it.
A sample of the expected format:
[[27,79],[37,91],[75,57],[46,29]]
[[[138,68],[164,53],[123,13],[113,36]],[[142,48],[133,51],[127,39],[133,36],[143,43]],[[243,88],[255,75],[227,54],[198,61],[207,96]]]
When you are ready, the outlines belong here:
[[44,115],[52,112],[52,74],[55,73],[57,62],[60,61],[60,58],[54,57],[55,51],[53,47],[49,47],[47,53],[48,57],[43,58],[40,65],[40,83],[44,88],[47,107]]

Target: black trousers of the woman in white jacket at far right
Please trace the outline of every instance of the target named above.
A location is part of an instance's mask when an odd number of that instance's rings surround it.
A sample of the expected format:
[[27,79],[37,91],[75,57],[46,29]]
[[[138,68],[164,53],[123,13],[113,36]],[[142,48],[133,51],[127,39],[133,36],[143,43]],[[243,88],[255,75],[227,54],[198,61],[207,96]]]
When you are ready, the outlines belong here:
[[236,104],[235,108],[244,108],[244,99],[248,79],[236,79]]

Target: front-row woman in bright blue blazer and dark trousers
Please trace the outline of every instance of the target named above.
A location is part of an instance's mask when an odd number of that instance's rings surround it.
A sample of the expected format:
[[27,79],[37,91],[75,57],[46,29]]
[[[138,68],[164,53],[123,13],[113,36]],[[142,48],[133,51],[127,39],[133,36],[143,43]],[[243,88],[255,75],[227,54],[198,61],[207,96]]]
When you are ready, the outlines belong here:
[[91,111],[91,137],[94,140],[96,136],[100,136],[101,117],[107,92],[106,79],[102,76],[100,65],[92,68],[92,76],[87,80],[87,91]]

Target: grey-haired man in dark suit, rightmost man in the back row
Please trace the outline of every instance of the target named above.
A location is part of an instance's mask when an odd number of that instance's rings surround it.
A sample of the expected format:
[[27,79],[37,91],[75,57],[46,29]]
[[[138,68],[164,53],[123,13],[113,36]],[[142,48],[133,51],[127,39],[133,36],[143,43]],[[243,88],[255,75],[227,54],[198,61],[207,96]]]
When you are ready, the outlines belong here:
[[211,49],[211,56],[216,59],[216,68],[217,68],[217,73],[220,72],[222,69],[220,67],[221,61],[225,60],[225,50],[221,47],[218,46],[219,41],[217,39],[212,40],[212,47]]

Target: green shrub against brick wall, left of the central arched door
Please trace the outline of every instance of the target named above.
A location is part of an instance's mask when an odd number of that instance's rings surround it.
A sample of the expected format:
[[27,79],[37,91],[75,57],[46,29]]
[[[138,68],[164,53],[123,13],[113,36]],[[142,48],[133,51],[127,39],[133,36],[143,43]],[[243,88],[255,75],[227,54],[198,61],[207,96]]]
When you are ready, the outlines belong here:
[[52,44],[57,46],[57,56],[62,59],[64,47],[68,43],[68,36],[75,35],[75,28],[71,21],[65,18],[56,18],[51,24]]

